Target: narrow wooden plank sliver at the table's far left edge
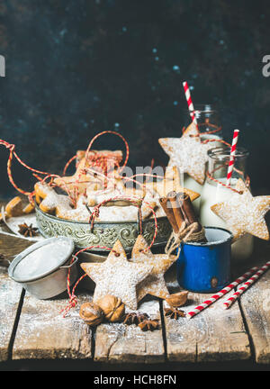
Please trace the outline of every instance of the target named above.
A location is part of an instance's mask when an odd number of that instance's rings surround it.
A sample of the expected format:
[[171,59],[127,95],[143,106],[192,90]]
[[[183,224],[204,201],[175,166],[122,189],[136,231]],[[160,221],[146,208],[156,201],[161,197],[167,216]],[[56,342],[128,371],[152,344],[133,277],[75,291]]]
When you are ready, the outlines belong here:
[[8,358],[9,344],[22,291],[20,285],[9,279],[6,268],[0,267],[0,362]]

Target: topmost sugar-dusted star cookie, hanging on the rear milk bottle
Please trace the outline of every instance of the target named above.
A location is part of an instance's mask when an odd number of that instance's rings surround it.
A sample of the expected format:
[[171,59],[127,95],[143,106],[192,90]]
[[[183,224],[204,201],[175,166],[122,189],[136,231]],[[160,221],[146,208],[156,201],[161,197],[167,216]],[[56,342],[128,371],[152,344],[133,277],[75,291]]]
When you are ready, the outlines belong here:
[[202,143],[197,135],[196,126],[192,123],[181,138],[162,138],[158,141],[170,157],[169,166],[182,168],[184,173],[202,185],[205,179],[205,163],[208,159],[207,151],[212,149],[212,144]]

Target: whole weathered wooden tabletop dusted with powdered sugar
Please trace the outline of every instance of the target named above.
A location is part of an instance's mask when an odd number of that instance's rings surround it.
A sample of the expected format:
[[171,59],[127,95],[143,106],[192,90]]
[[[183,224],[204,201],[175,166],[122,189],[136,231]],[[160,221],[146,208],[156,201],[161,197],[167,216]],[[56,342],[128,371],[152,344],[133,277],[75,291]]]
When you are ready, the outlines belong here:
[[[6,258],[12,258],[31,243],[3,236],[0,232],[0,253]],[[242,266],[238,265],[235,273],[240,275],[249,267],[266,263],[270,258],[268,246],[259,242],[253,258]],[[166,275],[166,281],[171,292],[176,292],[174,268]],[[178,362],[245,360],[254,353],[257,363],[269,364],[269,282],[270,272],[243,294],[240,306],[244,317],[238,303],[229,311],[223,310],[222,302],[228,295],[191,321],[165,318],[165,328],[154,332],[142,332],[136,326],[123,324],[102,324],[96,329],[94,343],[93,331],[78,315],[80,304],[91,298],[89,289],[93,289],[94,284],[88,282],[83,285],[88,292],[79,298],[76,309],[69,313],[67,319],[59,315],[67,300],[41,302],[26,295],[14,339],[13,358],[94,358],[95,361],[108,363],[160,363],[166,357],[169,361]],[[0,268],[0,361],[6,360],[11,351],[9,348],[13,344],[14,321],[21,293],[20,285],[8,279],[4,267]],[[184,311],[190,311],[207,297],[209,295],[190,294],[191,302]],[[139,311],[147,312],[152,318],[160,318],[157,300],[148,299],[139,306]]]

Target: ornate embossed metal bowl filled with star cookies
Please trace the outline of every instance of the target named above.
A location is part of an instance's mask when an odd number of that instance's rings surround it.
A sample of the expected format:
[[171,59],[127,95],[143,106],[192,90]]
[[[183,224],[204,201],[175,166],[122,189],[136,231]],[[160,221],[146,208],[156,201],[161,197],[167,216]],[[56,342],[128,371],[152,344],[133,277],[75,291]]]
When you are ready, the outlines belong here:
[[[37,223],[40,233],[45,238],[65,236],[75,241],[76,247],[85,249],[89,246],[105,246],[112,248],[116,240],[121,240],[123,248],[129,252],[139,235],[138,222],[94,222],[94,229],[87,222],[75,222],[59,219],[48,213],[43,213],[36,205]],[[171,226],[166,217],[157,218],[157,239],[154,246],[165,245],[170,234]],[[155,233],[153,219],[142,222],[142,231],[145,239],[150,243]],[[93,249],[105,251],[104,249]]]

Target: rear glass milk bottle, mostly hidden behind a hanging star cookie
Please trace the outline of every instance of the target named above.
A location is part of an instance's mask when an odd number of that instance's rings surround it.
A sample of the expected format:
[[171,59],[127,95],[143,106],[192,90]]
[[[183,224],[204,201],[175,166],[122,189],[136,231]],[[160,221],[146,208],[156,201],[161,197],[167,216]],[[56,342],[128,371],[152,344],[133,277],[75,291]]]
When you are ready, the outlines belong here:
[[[217,110],[215,110],[212,107],[211,104],[194,105],[194,113],[198,122],[199,130],[200,132],[202,132],[201,140],[222,139],[222,130],[220,126],[219,113]],[[191,122],[190,111],[186,111],[185,116],[186,116],[185,126],[187,127]],[[213,148],[220,147],[221,145],[219,141],[217,142],[213,141],[211,143]],[[193,177],[189,176],[186,173],[184,173],[184,187],[191,189],[200,195],[202,193],[202,185],[197,183],[197,181],[195,181]],[[200,203],[201,203],[201,197],[199,197],[193,202],[193,206],[196,213],[199,213],[200,211]]]

